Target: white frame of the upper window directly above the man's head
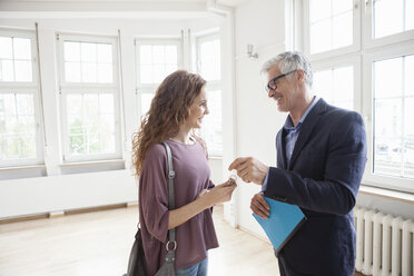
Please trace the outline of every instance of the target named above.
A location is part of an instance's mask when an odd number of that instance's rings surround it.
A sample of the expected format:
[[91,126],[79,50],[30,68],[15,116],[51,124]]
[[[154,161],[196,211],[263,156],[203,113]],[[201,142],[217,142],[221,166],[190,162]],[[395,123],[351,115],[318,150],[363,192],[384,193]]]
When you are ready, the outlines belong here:
[[310,17],[309,1],[303,1],[303,34],[304,34],[304,53],[309,59],[325,59],[341,55],[352,53],[361,49],[361,8],[359,0],[353,1],[353,43],[346,47],[333,49],[325,52],[310,53]]

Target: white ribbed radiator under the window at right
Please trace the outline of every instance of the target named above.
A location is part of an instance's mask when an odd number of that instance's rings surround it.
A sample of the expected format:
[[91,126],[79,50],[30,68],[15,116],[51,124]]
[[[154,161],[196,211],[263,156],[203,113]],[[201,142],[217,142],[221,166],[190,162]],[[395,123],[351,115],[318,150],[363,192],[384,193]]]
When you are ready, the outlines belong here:
[[359,207],[354,214],[356,270],[373,276],[414,276],[413,221]]

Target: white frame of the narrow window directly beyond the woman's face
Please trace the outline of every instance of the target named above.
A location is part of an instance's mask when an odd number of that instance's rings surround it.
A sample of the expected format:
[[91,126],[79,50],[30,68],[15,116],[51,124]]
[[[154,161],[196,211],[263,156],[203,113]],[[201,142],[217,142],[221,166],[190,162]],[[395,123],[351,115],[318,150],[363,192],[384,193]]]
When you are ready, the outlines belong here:
[[[200,72],[199,60],[201,60],[201,56],[200,56],[201,55],[201,47],[200,47],[201,43],[206,42],[206,41],[217,40],[217,39],[220,41],[220,45],[221,45],[221,39],[220,39],[219,33],[209,33],[209,34],[196,37],[196,69],[197,69],[198,73]],[[221,47],[220,47],[220,52],[221,52]],[[223,53],[220,53],[220,55],[223,55]],[[220,63],[221,62],[223,62],[223,58],[220,57]],[[221,66],[221,68],[223,68],[223,66]],[[221,103],[223,103],[223,72],[221,72],[221,76],[220,76],[219,80],[207,80],[207,90],[210,90],[210,91],[219,90],[221,92]],[[209,116],[211,116],[211,115],[209,115]],[[221,131],[223,131],[223,107],[221,107]],[[208,150],[208,155],[210,157],[223,158],[223,151],[211,150],[210,148],[208,148],[208,145],[207,145],[207,150]]]

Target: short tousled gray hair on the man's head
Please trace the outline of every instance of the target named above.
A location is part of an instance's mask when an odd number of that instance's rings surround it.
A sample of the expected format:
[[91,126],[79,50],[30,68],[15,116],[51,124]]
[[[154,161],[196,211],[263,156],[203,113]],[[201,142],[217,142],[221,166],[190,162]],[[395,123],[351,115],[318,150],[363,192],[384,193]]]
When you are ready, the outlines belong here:
[[[309,60],[298,51],[286,51],[277,55],[276,57],[267,60],[262,68],[262,72],[267,72],[272,67],[276,66],[282,73],[287,73],[300,69],[305,73],[305,82],[312,88],[313,73]],[[292,76],[286,76],[290,78]]]

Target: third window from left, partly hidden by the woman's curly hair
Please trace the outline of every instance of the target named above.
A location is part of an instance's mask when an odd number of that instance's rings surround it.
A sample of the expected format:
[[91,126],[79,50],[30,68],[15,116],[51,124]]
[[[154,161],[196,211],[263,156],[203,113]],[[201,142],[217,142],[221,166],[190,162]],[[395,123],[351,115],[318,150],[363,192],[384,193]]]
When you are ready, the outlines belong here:
[[149,110],[158,85],[183,67],[181,45],[179,40],[136,40],[135,45],[138,107],[142,116]]

